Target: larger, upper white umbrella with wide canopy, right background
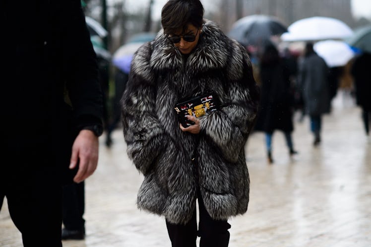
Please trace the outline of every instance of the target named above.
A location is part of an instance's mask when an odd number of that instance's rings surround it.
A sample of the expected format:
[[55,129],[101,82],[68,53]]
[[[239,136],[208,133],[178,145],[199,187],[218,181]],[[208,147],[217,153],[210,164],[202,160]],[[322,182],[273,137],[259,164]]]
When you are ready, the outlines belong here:
[[344,39],[352,36],[352,29],[343,21],[331,17],[313,16],[292,23],[289,32],[283,33],[283,41],[314,41]]

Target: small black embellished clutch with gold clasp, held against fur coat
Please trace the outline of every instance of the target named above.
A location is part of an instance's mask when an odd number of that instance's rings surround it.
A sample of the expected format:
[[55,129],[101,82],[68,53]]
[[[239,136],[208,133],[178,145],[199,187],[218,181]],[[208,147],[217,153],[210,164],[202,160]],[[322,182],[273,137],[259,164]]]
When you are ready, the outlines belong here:
[[177,103],[174,110],[178,116],[179,122],[188,127],[194,124],[187,119],[187,115],[199,118],[205,114],[216,111],[219,108],[219,98],[213,92],[207,92],[193,98],[182,99]]

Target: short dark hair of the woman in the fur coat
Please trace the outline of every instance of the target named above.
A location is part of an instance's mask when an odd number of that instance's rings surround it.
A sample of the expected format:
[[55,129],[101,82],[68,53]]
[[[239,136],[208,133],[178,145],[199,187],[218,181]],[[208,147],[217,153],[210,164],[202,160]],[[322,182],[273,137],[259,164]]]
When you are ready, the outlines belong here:
[[161,12],[164,33],[173,34],[180,28],[186,31],[187,24],[202,27],[204,9],[200,0],[169,0]]

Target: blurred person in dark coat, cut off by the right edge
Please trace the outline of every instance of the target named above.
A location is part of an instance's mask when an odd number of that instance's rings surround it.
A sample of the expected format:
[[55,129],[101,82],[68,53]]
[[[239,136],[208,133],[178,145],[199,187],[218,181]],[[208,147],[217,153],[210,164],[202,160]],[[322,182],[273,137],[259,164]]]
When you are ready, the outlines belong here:
[[356,91],[357,105],[362,108],[362,119],[366,134],[370,133],[371,115],[371,53],[363,52],[352,65],[352,76]]

